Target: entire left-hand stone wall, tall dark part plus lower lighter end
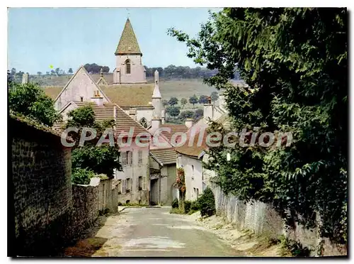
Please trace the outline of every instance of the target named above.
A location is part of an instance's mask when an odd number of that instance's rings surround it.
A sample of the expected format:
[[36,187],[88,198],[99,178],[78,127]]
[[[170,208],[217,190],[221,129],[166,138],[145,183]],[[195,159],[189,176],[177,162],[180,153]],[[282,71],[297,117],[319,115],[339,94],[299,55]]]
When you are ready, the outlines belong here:
[[70,148],[53,131],[31,124],[9,121],[8,255],[57,255],[93,224],[99,210],[118,210],[118,188],[99,178],[72,185]]

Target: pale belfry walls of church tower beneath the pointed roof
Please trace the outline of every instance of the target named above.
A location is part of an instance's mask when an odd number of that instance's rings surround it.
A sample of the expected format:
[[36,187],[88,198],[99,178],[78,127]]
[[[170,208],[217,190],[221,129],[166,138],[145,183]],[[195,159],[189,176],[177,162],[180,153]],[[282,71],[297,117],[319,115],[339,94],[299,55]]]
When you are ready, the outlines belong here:
[[[147,82],[145,68],[142,65],[140,55],[117,55],[116,65],[120,69],[120,83],[142,83]],[[130,75],[125,74],[125,60],[130,60]],[[118,80],[115,80],[118,83]]]

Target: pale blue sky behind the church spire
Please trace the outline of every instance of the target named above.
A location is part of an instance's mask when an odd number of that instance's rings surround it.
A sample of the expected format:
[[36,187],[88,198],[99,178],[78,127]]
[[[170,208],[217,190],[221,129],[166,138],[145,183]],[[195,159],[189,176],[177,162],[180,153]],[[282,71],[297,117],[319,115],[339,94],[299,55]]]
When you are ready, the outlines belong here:
[[[129,16],[147,67],[195,67],[188,48],[168,28],[195,36],[209,17],[207,8],[10,8],[8,69],[67,72],[96,63],[115,68],[115,49]],[[218,11],[219,9],[211,9]]]

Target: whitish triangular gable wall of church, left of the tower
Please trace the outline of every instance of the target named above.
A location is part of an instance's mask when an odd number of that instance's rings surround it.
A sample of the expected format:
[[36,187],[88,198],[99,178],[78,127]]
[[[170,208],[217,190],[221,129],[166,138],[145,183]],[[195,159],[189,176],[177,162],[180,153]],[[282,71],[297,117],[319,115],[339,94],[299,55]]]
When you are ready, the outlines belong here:
[[[86,74],[86,71],[80,68],[74,79],[69,82],[65,90],[55,101],[55,109],[59,111],[69,101],[81,101],[81,97],[83,97],[83,101],[91,101],[91,97],[93,97],[96,90],[98,90],[97,85]],[[108,101],[103,98],[103,102],[106,103]]]

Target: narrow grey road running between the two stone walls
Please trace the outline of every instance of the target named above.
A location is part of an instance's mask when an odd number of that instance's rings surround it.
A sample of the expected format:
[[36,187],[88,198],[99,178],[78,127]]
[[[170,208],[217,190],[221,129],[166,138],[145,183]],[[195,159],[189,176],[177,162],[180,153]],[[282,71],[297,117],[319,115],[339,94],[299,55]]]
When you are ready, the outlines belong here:
[[67,248],[66,255],[105,257],[237,256],[190,216],[169,208],[127,208],[108,216],[95,236]]

